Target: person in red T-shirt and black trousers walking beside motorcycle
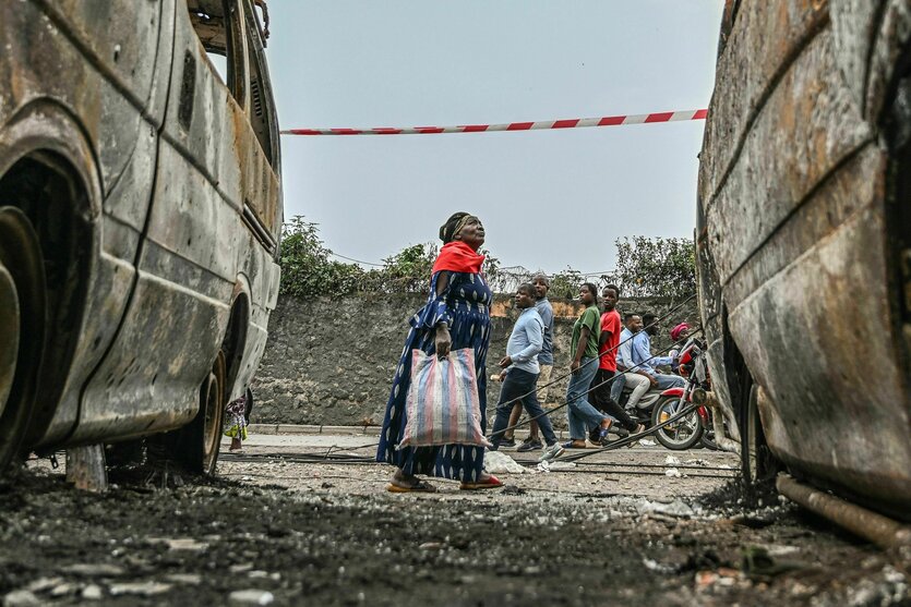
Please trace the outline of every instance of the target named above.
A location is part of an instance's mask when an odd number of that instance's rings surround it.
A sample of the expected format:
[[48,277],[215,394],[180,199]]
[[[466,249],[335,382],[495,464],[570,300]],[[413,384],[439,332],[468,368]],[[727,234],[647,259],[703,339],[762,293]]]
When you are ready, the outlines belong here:
[[636,424],[620,404],[611,398],[611,378],[616,373],[616,350],[620,344],[620,332],[623,325],[620,321],[620,313],[616,311],[616,301],[620,298],[620,288],[616,284],[608,284],[601,293],[604,302],[604,313],[601,314],[601,338],[598,342],[598,373],[591,381],[591,404],[596,409],[618,420],[624,428],[632,434],[639,434],[645,426]]

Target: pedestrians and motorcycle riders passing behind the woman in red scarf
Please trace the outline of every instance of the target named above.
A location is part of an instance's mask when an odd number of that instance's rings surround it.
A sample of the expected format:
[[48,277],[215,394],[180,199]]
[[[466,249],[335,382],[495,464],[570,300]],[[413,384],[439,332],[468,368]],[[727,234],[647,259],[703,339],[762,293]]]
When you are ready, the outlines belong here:
[[[516,307],[522,309],[506,348],[507,356],[500,362],[504,368],[503,388],[496,406],[491,440],[493,449],[515,447],[513,428],[519,421],[523,408],[531,418],[528,438],[517,447],[518,451],[541,449],[539,434],[547,447],[541,460],[552,459],[564,449],[584,449],[586,438],[595,445],[604,445],[614,422],[627,433],[639,434],[645,426],[636,422],[626,409],[635,409],[642,396],[650,388],[664,390],[682,386],[683,378],[657,371],[657,366],[671,366],[675,351],[669,356],[652,356],[650,337],[658,331],[654,314],[627,314],[621,323],[616,303],[620,288],[604,287],[601,296],[603,312],[598,308],[597,288],[586,282],[579,289],[579,301],[585,305],[573,326],[570,353],[570,384],[566,390],[570,440],[558,445],[550,420],[543,415],[538,402],[547,399],[548,384],[553,368],[553,308],[547,299],[548,278],[536,275],[532,282],[519,286]],[[534,300],[537,296],[537,301]],[[530,301],[529,301],[530,300]],[[534,307],[532,307],[534,306]],[[688,327],[681,324],[671,331],[673,339],[685,338]],[[540,336],[540,337],[539,337]],[[537,379],[543,386],[534,389],[535,383],[527,376],[534,373],[534,356],[538,352],[540,374]],[[526,367],[516,381],[508,373],[516,365],[516,356]],[[626,409],[620,404],[624,385],[631,385]]]

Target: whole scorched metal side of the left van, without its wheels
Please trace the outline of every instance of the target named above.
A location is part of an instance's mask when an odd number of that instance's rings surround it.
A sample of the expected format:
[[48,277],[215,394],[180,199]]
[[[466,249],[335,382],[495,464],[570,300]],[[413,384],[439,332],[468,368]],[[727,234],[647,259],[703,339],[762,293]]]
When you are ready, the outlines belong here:
[[[262,47],[244,26],[249,2],[228,5],[243,80]],[[3,2],[0,48],[0,177],[35,149],[59,154],[84,183],[93,233],[72,366],[36,445],[191,420],[242,298],[238,396],[276,303],[278,157],[251,129],[249,97],[236,101],[213,72],[187,2]],[[271,92],[259,93],[274,123]]]

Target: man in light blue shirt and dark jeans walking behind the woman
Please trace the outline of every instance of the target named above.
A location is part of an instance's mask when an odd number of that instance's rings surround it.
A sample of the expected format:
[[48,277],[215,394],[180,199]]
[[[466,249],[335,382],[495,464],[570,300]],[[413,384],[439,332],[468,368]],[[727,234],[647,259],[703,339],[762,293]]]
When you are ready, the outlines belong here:
[[510,341],[506,342],[506,356],[500,361],[503,368],[501,377],[503,387],[500,389],[500,402],[496,404],[496,420],[493,422],[493,433],[490,440],[493,444],[491,451],[500,448],[500,441],[510,424],[510,413],[513,411],[513,401],[525,406],[528,415],[537,420],[541,434],[548,444],[541,460],[550,460],[563,452],[563,447],[556,441],[550,418],[538,403],[536,384],[541,368],[538,364],[538,353],[544,345],[544,323],[538,311],[535,309],[536,291],[530,282],[519,284],[516,291],[516,307],[522,311]]

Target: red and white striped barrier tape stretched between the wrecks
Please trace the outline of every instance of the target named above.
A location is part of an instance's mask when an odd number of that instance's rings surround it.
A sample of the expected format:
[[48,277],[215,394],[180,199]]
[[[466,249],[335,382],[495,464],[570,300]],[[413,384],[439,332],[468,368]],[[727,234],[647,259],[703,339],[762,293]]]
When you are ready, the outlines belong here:
[[640,113],[635,116],[608,116],[604,118],[575,118],[571,120],[544,120],[539,122],[508,122],[505,124],[465,124],[462,126],[409,126],[404,129],[289,129],[283,135],[431,135],[440,133],[490,133],[494,131],[539,131],[544,129],[582,129],[585,126],[620,126],[622,124],[649,124],[705,120],[708,110]]

